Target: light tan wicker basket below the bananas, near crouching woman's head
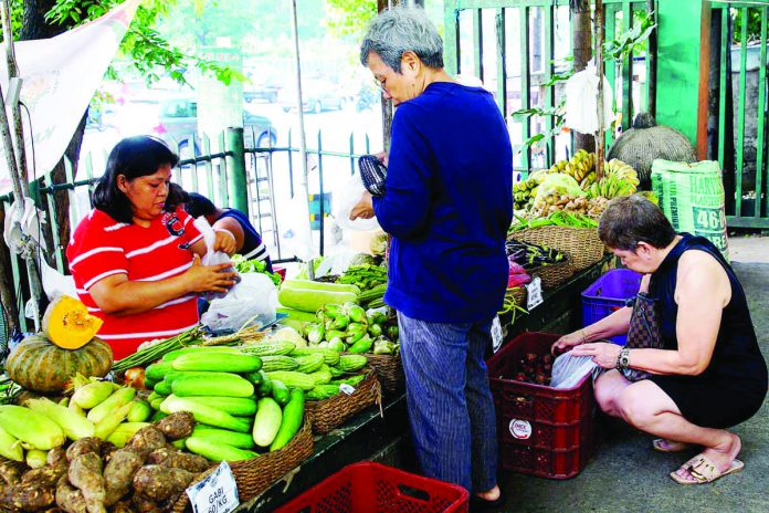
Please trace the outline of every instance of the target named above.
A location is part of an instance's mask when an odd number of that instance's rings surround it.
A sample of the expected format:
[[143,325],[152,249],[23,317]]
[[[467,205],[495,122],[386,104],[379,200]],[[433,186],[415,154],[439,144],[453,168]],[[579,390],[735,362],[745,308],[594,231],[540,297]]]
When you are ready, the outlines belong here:
[[573,271],[582,271],[594,264],[601,260],[604,251],[603,242],[598,238],[598,230],[594,228],[557,227],[554,224],[516,231],[510,237],[568,253],[572,259],[571,268]]

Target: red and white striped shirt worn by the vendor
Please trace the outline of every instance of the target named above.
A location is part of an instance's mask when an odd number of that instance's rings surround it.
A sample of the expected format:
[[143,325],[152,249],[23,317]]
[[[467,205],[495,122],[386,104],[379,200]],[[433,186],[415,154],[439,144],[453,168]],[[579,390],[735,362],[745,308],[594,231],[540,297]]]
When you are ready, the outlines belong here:
[[134,315],[109,315],[96,305],[88,290],[114,274],[130,281],[152,282],[183,273],[192,265],[190,247],[203,235],[181,208],[162,212],[149,227],[117,222],[101,210],[84,218],[66,249],[77,295],[88,312],[104,320],[98,336],[109,343],[115,359],[136,352],[139,344],[167,338],[198,323],[194,294],[166,302]]

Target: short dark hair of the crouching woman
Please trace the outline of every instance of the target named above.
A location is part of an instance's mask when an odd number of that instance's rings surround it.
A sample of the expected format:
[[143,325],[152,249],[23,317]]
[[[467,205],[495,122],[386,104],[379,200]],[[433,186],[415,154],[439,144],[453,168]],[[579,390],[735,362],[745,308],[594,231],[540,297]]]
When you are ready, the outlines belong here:
[[598,224],[598,237],[613,250],[635,251],[639,242],[663,249],[675,239],[675,229],[660,207],[632,195],[609,202]]

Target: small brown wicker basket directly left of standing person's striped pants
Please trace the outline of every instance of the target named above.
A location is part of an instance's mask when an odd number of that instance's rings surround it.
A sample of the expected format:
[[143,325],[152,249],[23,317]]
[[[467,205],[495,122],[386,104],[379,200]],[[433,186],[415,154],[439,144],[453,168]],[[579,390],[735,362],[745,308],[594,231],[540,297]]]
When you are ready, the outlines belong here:
[[377,379],[377,373],[369,369],[356,390],[349,396],[339,392],[334,397],[319,401],[307,401],[305,411],[313,427],[313,432],[325,435],[331,429],[341,426],[355,413],[369,406],[382,402],[382,389]]

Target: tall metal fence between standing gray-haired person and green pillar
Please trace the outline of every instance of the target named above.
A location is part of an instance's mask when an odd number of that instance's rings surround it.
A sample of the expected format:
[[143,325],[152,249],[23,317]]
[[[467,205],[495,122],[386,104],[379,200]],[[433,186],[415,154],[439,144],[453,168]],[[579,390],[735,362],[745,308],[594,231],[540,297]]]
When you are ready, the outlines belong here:
[[[462,0],[445,2],[445,64],[451,73],[472,74],[494,92],[516,149],[515,168],[548,167],[571,153],[571,137],[561,134],[542,147],[522,149],[533,134],[554,128],[552,117],[509,118],[516,109],[551,109],[562,97],[547,86],[556,73],[570,69],[572,25],[568,0]],[[633,14],[646,11],[645,1],[604,0],[605,38],[630,30]],[[635,113],[649,105],[649,60],[630,55],[608,62],[607,78],[628,128]],[[609,142],[612,135],[609,135]]]

